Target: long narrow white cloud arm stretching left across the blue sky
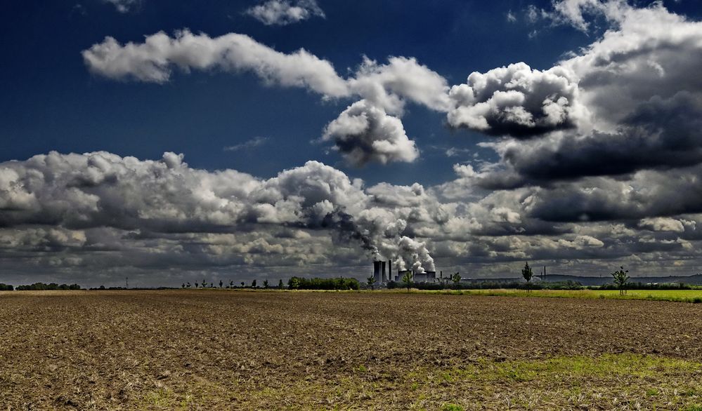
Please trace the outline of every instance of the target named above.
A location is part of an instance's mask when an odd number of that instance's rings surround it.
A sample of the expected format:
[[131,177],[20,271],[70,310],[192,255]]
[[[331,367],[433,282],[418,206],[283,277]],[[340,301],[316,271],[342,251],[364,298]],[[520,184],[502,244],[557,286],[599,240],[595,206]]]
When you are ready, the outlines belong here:
[[164,83],[173,67],[185,72],[219,69],[251,71],[267,83],[309,88],[327,97],[349,93],[330,62],[304,49],[280,53],[245,34],[212,38],[183,30],[171,38],[159,32],[147,36],[144,43],[124,45],[108,36],[82,54],[91,72],[110,79]]

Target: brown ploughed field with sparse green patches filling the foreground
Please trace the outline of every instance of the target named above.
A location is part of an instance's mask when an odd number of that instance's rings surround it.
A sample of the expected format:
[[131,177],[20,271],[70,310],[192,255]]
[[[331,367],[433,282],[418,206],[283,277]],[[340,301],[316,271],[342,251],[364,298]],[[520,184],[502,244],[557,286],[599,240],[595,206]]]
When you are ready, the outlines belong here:
[[698,410],[701,314],[611,299],[0,292],[0,404]]

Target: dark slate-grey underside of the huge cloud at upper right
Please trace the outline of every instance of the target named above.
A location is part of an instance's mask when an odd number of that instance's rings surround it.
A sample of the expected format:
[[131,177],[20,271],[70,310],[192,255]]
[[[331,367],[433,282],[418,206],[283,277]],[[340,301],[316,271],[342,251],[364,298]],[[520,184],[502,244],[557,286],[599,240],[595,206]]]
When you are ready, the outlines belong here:
[[507,169],[483,176],[491,189],[547,184],[585,176],[620,175],[642,169],[694,166],[702,162],[701,100],[682,91],[651,97],[620,121],[613,133],[566,135],[531,144],[506,145]]

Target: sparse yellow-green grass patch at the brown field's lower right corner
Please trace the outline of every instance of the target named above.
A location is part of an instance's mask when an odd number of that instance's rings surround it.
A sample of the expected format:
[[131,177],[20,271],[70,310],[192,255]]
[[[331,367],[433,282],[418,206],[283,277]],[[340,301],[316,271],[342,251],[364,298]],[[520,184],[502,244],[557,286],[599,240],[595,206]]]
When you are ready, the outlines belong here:
[[702,372],[702,363],[665,356],[626,353],[503,362],[483,358],[453,368],[414,368],[400,375],[373,372],[372,379],[351,372],[275,389],[241,386],[246,395],[237,397],[246,398],[242,407],[254,408],[294,398],[288,404],[293,408],[315,404],[340,409],[464,410],[466,404],[484,403],[501,409],[509,400],[512,406],[531,410],[570,409],[584,403],[609,409],[639,403],[651,410],[702,411],[695,408],[701,400],[696,376]]

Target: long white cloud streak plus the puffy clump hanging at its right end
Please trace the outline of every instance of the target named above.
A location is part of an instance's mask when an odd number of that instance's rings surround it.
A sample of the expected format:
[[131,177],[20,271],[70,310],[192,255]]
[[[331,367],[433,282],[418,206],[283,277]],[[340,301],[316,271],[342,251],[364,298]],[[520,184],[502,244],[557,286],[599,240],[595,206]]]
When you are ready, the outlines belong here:
[[[365,58],[351,78],[342,79],[330,62],[304,49],[280,53],[243,34],[211,38],[184,30],[171,38],[160,32],[141,44],[124,45],[107,37],[84,50],[83,58],[91,72],[110,79],[164,83],[175,67],[183,72],[247,70],[266,83],[307,88],[325,98],[360,96],[363,100],[353,106],[353,113],[349,107],[340,114],[323,137],[359,165],[417,158],[415,143],[408,140],[400,120],[406,101],[437,111],[446,111],[451,104],[446,79],[413,58],[389,58],[386,65]],[[363,114],[357,112],[360,105]],[[356,126],[365,121],[367,129],[349,130],[354,121]],[[351,147],[354,143],[368,144]]]

